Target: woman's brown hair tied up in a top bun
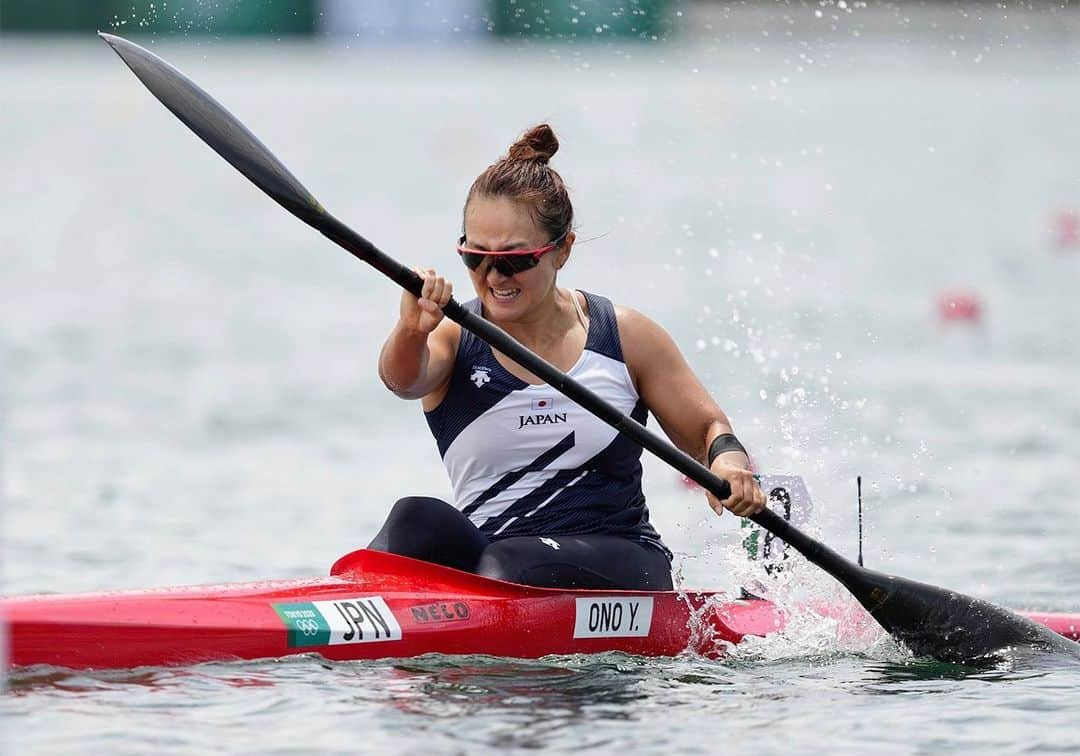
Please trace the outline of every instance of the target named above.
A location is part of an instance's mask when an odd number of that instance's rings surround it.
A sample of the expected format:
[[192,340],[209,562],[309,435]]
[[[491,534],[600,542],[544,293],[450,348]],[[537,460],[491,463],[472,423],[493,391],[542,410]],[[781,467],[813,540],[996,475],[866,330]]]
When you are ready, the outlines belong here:
[[557,151],[558,139],[551,126],[534,126],[510,146],[504,158],[476,177],[465,210],[474,197],[504,197],[527,205],[552,239],[565,235],[573,225],[573,205],[563,177],[548,164]]

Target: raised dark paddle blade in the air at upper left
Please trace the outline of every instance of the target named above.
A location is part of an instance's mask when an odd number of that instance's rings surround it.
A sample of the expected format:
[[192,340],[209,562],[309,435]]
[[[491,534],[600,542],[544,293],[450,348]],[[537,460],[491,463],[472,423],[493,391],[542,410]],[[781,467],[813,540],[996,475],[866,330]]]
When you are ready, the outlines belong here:
[[149,50],[122,37],[97,33],[162,105],[255,186],[308,224],[326,215],[266,145],[198,84]]

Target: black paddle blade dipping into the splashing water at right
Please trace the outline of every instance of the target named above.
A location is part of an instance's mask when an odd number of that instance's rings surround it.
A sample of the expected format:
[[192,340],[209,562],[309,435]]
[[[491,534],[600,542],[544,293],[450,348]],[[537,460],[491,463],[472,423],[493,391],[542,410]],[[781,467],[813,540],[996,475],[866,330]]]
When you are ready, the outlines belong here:
[[1080,659],[1080,644],[981,598],[858,567],[836,577],[916,656],[972,663],[1031,649]]

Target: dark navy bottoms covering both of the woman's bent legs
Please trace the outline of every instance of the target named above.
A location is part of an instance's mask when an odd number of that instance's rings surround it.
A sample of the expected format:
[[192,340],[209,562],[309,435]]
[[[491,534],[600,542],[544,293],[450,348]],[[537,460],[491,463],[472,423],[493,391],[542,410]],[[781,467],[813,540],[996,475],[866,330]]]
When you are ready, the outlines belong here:
[[672,590],[659,545],[624,536],[515,536],[491,541],[442,499],[400,499],[368,549],[538,588]]

